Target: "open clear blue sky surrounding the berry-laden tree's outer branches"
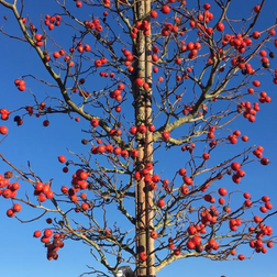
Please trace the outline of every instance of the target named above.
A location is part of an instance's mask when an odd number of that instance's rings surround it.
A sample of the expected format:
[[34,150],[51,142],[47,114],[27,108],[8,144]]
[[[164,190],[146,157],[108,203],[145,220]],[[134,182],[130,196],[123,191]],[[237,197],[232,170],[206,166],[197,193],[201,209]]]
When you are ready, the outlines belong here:
[[[232,0],[232,9],[230,15],[235,19],[247,16],[251,8],[258,4],[258,1],[239,1]],[[203,2],[201,2],[203,3]],[[212,2],[211,2],[212,3]],[[24,1],[25,14],[30,14],[33,22],[37,22],[41,13],[53,14],[59,9],[54,1]],[[73,11],[77,14],[87,12],[86,9],[77,10],[73,1],[68,1]],[[91,8],[92,9],[92,8]],[[263,16],[258,21],[258,30],[275,23],[275,13],[277,12],[277,1],[266,1]],[[19,33],[19,29],[12,19],[12,14],[0,7],[0,26],[3,23],[3,15],[8,15],[7,29],[13,34]],[[64,29],[63,29],[64,30]],[[55,30],[56,34],[66,40],[66,32]],[[66,45],[66,44],[65,44]],[[275,51],[274,45],[270,45],[270,51]],[[275,51],[276,52],[276,51]],[[277,53],[276,53],[277,54]],[[276,67],[276,59],[273,59],[272,68]],[[35,74],[38,77],[45,76],[45,69],[40,64],[34,51],[26,44],[16,40],[11,40],[0,34],[0,108],[14,110],[23,107],[26,103],[32,103],[30,93],[22,93],[14,87],[15,78]],[[254,124],[246,120],[239,121],[239,129],[251,137],[251,142],[265,147],[265,156],[270,159],[267,167],[258,164],[247,167],[247,176],[243,180],[242,188],[251,192],[253,196],[268,195],[272,198],[273,204],[276,207],[276,168],[277,168],[277,128],[276,128],[276,88],[268,78],[263,82],[263,90],[272,97],[273,101],[269,104],[262,106],[257,120]],[[27,87],[35,91],[42,101],[49,88],[42,86],[30,79]],[[14,113],[16,114],[16,113]],[[62,173],[63,166],[57,163],[58,155],[68,155],[67,147],[73,151],[81,152],[84,145],[80,144],[80,130],[86,129],[86,122],[75,122],[68,117],[49,117],[51,125],[43,128],[44,119],[26,118],[22,126],[16,126],[14,122],[0,123],[9,128],[9,135],[0,143],[0,153],[16,166],[26,168],[26,160],[31,162],[34,171],[38,171],[44,179],[51,179],[54,176],[54,185],[59,188],[60,185],[67,185],[70,176],[65,176]],[[0,137],[1,140],[1,137]],[[87,149],[85,149],[86,152]],[[163,164],[164,163],[164,164]],[[160,162],[168,171],[176,170],[171,166],[173,163]],[[0,173],[3,174],[8,167],[4,164],[0,166]],[[21,184],[26,186],[27,184]],[[241,189],[241,188],[240,188]],[[59,251],[58,261],[48,262],[46,259],[46,248],[40,240],[32,237],[33,232],[37,229],[46,228],[45,218],[30,224],[21,224],[15,219],[9,219],[5,215],[7,209],[11,206],[10,201],[0,199],[0,276],[4,277],[46,277],[46,276],[67,276],[76,277],[79,274],[87,272],[86,265],[95,266],[98,264],[89,254],[89,247],[80,242],[66,241],[65,247]],[[31,219],[35,211],[27,209],[22,212],[22,219]],[[277,230],[277,224],[272,220],[270,223],[274,231]],[[275,232],[274,232],[275,233]],[[275,233],[276,234],[276,233]],[[247,250],[247,254],[250,250]],[[171,276],[204,276],[219,277],[267,277],[277,276],[276,268],[277,247],[268,250],[266,255],[256,254],[251,261],[244,262],[211,262],[204,258],[189,258],[175,262],[165,267],[158,277]]]

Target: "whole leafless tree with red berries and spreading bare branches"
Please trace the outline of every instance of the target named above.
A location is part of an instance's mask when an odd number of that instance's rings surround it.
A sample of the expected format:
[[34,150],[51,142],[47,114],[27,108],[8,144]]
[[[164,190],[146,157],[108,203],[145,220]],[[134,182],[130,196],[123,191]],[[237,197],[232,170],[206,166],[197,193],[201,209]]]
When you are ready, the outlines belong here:
[[[224,185],[242,182],[255,160],[269,164],[235,124],[254,123],[272,101],[263,82],[277,84],[276,23],[256,29],[266,1],[240,20],[229,16],[231,0],[55,2],[55,13],[34,22],[23,1],[0,0],[10,12],[2,35],[30,45],[46,69],[44,78],[14,80],[33,102],[2,108],[1,119],[22,125],[29,115],[44,118],[45,128],[62,114],[84,121],[89,153],[57,155],[71,173],[60,190],[53,176],[44,180],[31,164],[23,170],[0,154],[11,167],[0,179],[1,201],[12,203],[7,215],[25,222],[21,204],[41,210],[29,221],[47,217],[51,226],[34,232],[47,258],[57,259],[66,240],[81,241],[106,267],[91,268],[102,276],[124,264],[148,277],[180,258],[244,259],[252,254],[240,252],[244,244],[266,253],[274,243],[267,220],[276,213],[269,197]],[[11,20],[20,35],[5,31]],[[45,99],[32,80],[49,88]],[[177,152],[184,158],[167,173],[160,160]]]

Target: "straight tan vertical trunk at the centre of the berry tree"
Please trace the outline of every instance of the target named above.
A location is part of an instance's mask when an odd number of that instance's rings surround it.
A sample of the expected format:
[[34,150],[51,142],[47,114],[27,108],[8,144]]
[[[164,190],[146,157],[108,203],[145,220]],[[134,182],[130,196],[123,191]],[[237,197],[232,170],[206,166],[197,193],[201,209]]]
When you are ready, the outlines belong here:
[[[135,20],[147,20],[149,22],[151,0],[138,1],[136,3]],[[143,78],[149,85],[149,90],[137,88],[133,80],[133,91],[135,96],[135,124],[152,124],[152,41],[151,30],[147,34],[138,33],[136,45],[133,46],[133,54],[137,57],[135,65],[135,78]],[[146,132],[144,136],[137,137],[138,157],[136,167],[142,169],[145,163],[153,162],[152,133]],[[152,173],[151,173],[152,174]],[[145,262],[136,259],[136,275],[138,277],[155,276],[154,240],[151,237],[153,230],[153,192],[147,189],[144,180],[136,184],[136,251],[145,252]]]

